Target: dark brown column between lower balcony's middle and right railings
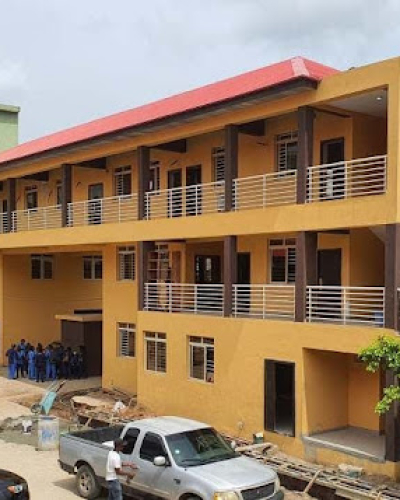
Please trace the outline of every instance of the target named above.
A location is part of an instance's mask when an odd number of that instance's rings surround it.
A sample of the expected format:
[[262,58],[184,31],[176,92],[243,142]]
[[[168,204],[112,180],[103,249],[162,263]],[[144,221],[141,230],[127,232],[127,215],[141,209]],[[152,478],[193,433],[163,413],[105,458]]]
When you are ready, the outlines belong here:
[[307,286],[317,284],[318,234],[302,231],[296,238],[295,321],[306,319]]

